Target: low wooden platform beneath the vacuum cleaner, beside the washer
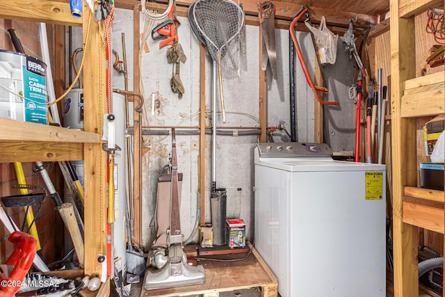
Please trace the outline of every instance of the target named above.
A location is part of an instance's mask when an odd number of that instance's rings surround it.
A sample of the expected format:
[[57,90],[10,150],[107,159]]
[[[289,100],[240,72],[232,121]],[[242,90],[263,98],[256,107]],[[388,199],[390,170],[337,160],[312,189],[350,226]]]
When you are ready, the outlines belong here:
[[[242,258],[246,254],[230,255],[232,258]],[[223,257],[223,256],[215,256]],[[149,296],[191,296],[218,297],[221,292],[258,288],[262,297],[278,295],[278,280],[266,265],[257,250],[252,248],[252,255],[238,262],[214,262],[200,260],[206,273],[204,284],[191,286],[145,290],[140,297]]]

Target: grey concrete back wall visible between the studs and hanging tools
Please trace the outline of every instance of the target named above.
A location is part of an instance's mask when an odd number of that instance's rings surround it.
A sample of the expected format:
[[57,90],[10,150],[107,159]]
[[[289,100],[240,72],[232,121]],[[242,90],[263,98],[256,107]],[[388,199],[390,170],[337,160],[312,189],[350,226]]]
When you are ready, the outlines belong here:
[[[140,15],[140,31],[144,28],[144,15]],[[179,43],[187,56],[185,64],[181,64],[181,80],[185,93],[182,99],[170,90],[172,65],[167,63],[166,48],[159,49],[159,42],[147,39],[149,53],[142,53],[141,77],[145,95],[144,125],[196,127],[199,125],[200,110],[200,45],[193,35],[188,19],[179,17],[181,26],[178,29]],[[125,34],[127,62],[129,72],[129,90],[133,90],[133,10],[117,9],[113,22],[113,49],[122,60],[122,33]],[[285,122],[290,132],[289,115],[289,31],[275,31],[277,41],[277,80],[272,79],[270,69],[267,70],[268,80],[268,127]],[[80,47],[79,31],[74,29],[77,44]],[[300,46],[305,53],[309,69],[314,69],[314,49],[310,35],[297,33]],[[257,26],[246,26],[246,54],[242,56],[243,68],[241,77],[223,82],[227,123],[223,124],[220,114],[216,118],[217,127],[258,127],[259,122],[259,29]],[[136,52],[136,54],[138,54]],[[114,59],[113,59],[114,61]],[[80,62],[79,62],[80,63]],[[79,64],[78,64],[79,65]],[[206,110],[211,111],[211,57],[207,54],[206,65]],[[124,77],[113,70],[113,88],[124,89]],[[151,111],[151,94],[159,106]],[[296,115],[298,141],[314,141],[314,95],[308,88],[301,67],[296,62]],[[217,111],[220,111],[219,99]],[[211,125],[212,115],[206,115],[207,125]],[[161,129],[167,130],[167,129]],[[198,172],[199,166],[205,166],[206,177],[206,221],[210,222],[211,192],[211,136],[206,138],[206,163],[198,164],[199,136],[178,135],[177,158],[178,170],[184,174],[181,193],[181,229],[184,237],[188,237],[197,219]],[[229,130],[234,131],[234,130]],[[239,129],[238,131],[241,131]],[[284,131],[273,136],[274,141],[289,141]],[[150,147],[143,156],[143,246],[149,248],[154,239],[154,208],[156,201],[156,182],[159,170],[168,163],[171,151],[170,136],[145,136],[144,143]],[[253,240],[253,152],[257,136],[216,136],[216,187],[227,189],[227,218],[243,218],[247,223],[248,240]],[[197,242],[197,235],[194,237]]]

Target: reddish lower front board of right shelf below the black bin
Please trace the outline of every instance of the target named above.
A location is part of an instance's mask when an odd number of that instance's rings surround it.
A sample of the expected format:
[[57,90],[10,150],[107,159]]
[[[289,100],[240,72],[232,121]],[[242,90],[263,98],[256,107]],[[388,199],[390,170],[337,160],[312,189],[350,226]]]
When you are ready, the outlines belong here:
[[403,223],[444,234],[443,205],[443,202],[404,197]]

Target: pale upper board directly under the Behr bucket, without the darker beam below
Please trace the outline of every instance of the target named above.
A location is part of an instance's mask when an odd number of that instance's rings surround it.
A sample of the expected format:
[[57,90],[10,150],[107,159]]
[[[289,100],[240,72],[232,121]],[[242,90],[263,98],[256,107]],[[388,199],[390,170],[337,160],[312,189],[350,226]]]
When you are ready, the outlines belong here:
[[99,134],[32,122],[0,118],[0,127],[3,127],[0,131],[0,141],[100,143]]

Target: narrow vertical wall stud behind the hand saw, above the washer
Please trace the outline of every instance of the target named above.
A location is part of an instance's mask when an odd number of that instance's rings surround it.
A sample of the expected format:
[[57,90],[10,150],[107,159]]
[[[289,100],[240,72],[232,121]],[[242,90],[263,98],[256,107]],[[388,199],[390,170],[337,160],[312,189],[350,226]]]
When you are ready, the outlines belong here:
[[259,142],[266,142],[267,133],[267,83],[266,83],[266,70],[261,67],[261,57],[263,56],[263,31],[259,26],[259,126],[261,127],[261,135],[259,136]]

